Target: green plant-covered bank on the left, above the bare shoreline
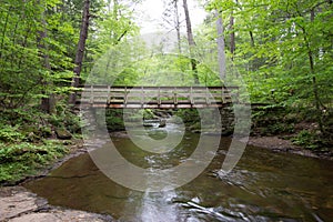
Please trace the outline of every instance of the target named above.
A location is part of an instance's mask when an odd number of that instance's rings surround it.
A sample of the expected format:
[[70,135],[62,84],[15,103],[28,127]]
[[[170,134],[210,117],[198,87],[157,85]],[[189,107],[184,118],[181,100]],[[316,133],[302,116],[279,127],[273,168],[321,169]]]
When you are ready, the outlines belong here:
[[[51,145],[38,145],[31,143],[26,147],[26,143],[18,144],[18,148],[10,149],[12,153],[8,157],[10,160],[4,160],[1,165],[3,170],[0,180],[0,186],[18,185],[29,180],[46,176],[50,171],[60,167],[67,160],[85,153],[83,149],[83,141],[81,139],[71,140],[50,140],[50,144],[57,144],[56,148]],[[14,160],[18,159],[18,164]],[[20,169],[22,168],[22,169]],[[6,176],[6,174],[14,173],[13,176]],[[4,180],[9,178],[9,180]]]

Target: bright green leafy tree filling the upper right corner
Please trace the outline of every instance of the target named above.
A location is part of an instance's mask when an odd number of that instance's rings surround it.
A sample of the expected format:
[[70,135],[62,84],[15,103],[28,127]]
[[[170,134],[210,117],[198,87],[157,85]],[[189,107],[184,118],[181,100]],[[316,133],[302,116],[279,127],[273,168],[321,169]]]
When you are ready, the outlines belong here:
[[[209,1],[209,9],[232,17],[238,32],[233,59],[253,101],[315,110],[322,118],[332,109],[332,3],[319,0]],[[232,20],[230,20],[232,21]],[[225,38],[225,34],[224,34]],[[232,37],[230,37],[232,39]],[[232,42],[232,41],[231,41]],[[231,44],[231,51],[232,44]],[[273,92],[273,94],[272,94]]]

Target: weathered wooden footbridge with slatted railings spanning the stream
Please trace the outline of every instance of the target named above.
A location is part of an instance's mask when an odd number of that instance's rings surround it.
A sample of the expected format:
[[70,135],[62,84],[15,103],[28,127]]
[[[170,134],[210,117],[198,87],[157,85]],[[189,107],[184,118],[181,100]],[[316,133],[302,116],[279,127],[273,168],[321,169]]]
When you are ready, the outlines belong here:
[[235,102],[238,93],[238,87],[84,85],[78,92],[77,104],[83,108],[222,108]]

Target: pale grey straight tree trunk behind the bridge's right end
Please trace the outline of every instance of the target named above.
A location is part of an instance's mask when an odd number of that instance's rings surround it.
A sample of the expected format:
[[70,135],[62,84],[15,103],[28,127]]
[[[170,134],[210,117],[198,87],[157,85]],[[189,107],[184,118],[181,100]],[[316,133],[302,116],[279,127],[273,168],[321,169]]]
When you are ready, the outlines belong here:
[[218,56],[219,56],[219,71],[222,80],[225,79],[225,52],[224,52],[224,36],[223,36],[223,20],[222,14],[218,12],[216,20],[218,30]]

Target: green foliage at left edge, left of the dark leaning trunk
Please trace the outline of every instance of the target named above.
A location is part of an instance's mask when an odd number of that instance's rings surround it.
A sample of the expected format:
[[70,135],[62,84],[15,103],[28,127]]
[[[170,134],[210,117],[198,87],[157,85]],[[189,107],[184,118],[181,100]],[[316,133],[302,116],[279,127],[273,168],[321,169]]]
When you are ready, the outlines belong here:
[[[61,1],[16,1],[1,4],[0,104],[16,109],[37,103],[59,88],[73,68],[64,37],[73,38],[69,22],[62,22]],[[24,21],[24,22],[22,22]],[[62,27],[60,29],[60,27]],[[65,73],[65,74],[64,74]],[[63,85],[60,85],[63,87]]]

